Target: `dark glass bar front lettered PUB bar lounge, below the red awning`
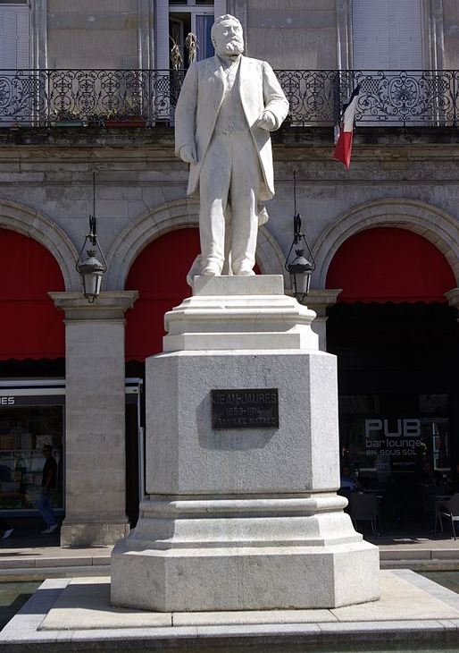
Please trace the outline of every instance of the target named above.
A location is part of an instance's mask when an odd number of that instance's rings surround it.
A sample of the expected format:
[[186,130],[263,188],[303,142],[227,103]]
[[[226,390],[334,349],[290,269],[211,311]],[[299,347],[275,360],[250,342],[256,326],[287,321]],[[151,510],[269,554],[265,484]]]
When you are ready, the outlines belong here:
[[380,530],[435,530],[436,499],[459,490],[448,395],[346,394],[339,411],[342,478],[378,496]]

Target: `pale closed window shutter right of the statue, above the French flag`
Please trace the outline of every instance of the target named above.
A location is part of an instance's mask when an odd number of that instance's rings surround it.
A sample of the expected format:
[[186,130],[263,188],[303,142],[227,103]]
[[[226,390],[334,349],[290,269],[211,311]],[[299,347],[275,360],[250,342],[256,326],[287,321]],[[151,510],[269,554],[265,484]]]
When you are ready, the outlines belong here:
[[421,0],[353,0],[354,67],[422,68]]

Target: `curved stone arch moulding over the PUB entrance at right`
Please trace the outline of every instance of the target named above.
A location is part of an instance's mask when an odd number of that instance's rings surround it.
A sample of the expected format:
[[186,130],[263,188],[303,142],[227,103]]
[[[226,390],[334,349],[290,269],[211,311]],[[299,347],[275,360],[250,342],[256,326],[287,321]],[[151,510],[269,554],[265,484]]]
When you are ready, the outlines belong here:
[[417,199],[378,199],[351,208],[319,236],[313,247],[317,267],[313,287],[325,288],[330,262],[350,236],[364,229],[393,226],[419,233],[440,250],[459,278],[459,227],[457,220],[440,208]]

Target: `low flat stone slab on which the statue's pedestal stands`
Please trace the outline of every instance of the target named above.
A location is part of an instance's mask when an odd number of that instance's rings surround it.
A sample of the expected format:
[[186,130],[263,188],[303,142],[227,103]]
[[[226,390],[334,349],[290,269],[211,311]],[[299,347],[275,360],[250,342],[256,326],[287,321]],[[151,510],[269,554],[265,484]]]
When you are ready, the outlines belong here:
[[[455,601],[458,606],[459,597],[453,591],[410,570],[383,571],[380,579],[381,600],[358,606],[247,615],[242,611],[232,615],[176,613],[173,618],[170,613],[113,608],[108,577],[48,580],[4,628],[3,643],[16,644],[18,650],[23,646],[26,651],[33,642],[40,646],[55,641],[98,642],[98,649],[108,651],[115,641],[135,649],[140,643],[142,647],[148,642],[156,647],[165,642],[173,647],[178,640],[197,639],[204,648],[206,643],[218,640],[220,645],[226,642],[229,650],[258,640],[272,640],[283,650],[292,638],[304,644],[326,641],[337,645],[343,636],[352,642],[394,640],[404,642],[404,646],[410,641],[455,641],[459,609],[448,604]],[[45,622],[47,628],[56,630],[45,630]]]

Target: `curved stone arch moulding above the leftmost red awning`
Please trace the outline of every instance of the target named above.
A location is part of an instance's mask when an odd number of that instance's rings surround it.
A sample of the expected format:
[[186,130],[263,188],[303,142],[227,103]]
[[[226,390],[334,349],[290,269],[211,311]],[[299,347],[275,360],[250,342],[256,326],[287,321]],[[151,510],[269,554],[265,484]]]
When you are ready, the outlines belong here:
[[0,199],[1,228],[29,236],[46,247],[61,268],[65,290],[79,290],[79,275],[75,269],[78,251],[60,226],[33,208]]

